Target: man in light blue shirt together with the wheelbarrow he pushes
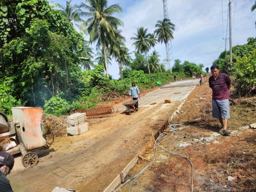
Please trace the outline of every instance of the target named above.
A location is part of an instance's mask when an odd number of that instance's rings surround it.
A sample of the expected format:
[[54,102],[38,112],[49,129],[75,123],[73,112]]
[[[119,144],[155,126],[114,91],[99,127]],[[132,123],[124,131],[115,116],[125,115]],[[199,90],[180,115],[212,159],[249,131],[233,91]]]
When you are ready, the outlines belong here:
[[[134,109],[134,111],[138,110],[139,104],[138,104],[138,99],[140,98],[140,90],[139,88],[135,85],[135,82],[131,83],[131,88],[129,91],[129,101],[126,101],[123,103],[124,106],[126,106],[126,114],[131,114],[130,107]],[[130,101],[132,97],[132,100]]]

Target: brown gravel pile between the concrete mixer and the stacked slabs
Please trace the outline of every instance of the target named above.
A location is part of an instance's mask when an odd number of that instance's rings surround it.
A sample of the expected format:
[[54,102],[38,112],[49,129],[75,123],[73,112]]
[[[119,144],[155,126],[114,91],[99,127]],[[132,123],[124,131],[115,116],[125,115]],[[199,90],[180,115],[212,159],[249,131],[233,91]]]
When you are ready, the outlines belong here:
[[67,119],[53,115],[43,114],[43,119],[51,122],[51,129],[54,137],[67,136]]

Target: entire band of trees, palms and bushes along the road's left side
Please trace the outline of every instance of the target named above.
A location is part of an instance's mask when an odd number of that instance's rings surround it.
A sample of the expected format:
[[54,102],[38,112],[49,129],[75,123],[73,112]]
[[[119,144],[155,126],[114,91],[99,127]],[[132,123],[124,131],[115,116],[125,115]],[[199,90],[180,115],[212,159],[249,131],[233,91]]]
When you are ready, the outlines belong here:
[[[113,17],[122,8],[107,4],[107,0],[87,0],[72,5],[69,0],[54,7],[46,0],[1,0],[2,112],[11,115],[11,107],[35,106],[60,116],[95,107],[112,94],[127,95],[132,81],[140,88],[151,88],[159,86],[157,82],[173,81],[173,75],[179,79],[201,72],[203,65],[187,61],[175,61],[173,74],[166,71],[155,45],[167,45],[173,39],[174,24],[169,19],[157,21],[154,33],[139,27],[132,38],[136,52],[131,52],[118,29],[123,22]],[[89,35],[89,41],[83,35]],[[89,46],[93,43],[97,54]],[[113,59],[118,63],[119,80],[108,73]]]

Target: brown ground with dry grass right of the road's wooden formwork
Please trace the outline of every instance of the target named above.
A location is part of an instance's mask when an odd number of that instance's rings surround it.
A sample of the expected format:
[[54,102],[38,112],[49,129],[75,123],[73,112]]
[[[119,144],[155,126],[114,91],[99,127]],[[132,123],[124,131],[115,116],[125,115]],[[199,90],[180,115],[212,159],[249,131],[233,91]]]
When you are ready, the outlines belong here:
[[[244,126],[256,122],[256,98],[235,98],[231,105],[229,136],[219,134],[218,120],[211,117],[211,89],[208,84],[198,87],[188,97],[172,124],[189,127],[167,134],[159,142],[167,150],[188,157],[194,166],[194,191],[256,191],[256,130]],[[202,97],[203,100],[199,98]],[[241,128],[244,127],[244,128]],[[153,149],[127,175],[131,179],[155,157]],[[190,191],[191,165],[183,157],[170,154],[158,147],[157,159],[133,183],[120,191]],[[228,180],[228,177],[232,180]]]

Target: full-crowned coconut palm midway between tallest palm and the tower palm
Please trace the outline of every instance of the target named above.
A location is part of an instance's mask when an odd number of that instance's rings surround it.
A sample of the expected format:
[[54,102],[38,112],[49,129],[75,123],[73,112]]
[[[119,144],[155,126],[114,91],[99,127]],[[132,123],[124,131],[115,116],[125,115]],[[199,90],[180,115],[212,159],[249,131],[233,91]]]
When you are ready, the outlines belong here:
[[[135,40],[135,42],[132,45],[135,45],[135,50],[137,52],[145,55],[147,59],[147,52],[150,49],[150,33],[147,33],[147,29],[144,29],[143,27],[137,28],[137,33],[133,33],[136,35],[136,37],[131,37],[132,40]],[[148,64],[148,59],[147,59],[147,68],[148,72],[150,73],[150,67]]]

